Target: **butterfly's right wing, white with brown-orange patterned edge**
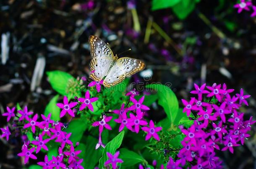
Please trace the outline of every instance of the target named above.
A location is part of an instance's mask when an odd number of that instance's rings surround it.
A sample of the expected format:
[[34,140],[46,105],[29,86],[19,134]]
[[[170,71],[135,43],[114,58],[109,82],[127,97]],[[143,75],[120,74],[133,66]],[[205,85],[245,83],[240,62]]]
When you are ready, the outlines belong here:
[[103,85],[108,88],[115,86],[121,83],[125,77],[132,76],[144,68],[145,63],[141,60],[128,57],[119,58],[104,79]]

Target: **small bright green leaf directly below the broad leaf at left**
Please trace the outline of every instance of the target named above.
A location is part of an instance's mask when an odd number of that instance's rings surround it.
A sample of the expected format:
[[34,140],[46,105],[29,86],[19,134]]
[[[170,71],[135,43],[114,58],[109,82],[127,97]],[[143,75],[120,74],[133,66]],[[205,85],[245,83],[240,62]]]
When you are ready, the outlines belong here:
[[56,106],[57,100],[60,95],[54,96],[50,102],[47,104],[45,110],[44,110],[44,116],[48,116],[48,114],[52,114],[51,119],[54,121],[60,120],[60,108]]

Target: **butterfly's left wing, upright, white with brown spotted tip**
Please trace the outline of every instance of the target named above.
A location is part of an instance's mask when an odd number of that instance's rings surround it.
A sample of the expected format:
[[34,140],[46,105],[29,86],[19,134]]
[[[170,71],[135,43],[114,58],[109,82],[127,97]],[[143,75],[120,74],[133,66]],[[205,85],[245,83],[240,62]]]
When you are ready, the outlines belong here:
[[91,49],[90,78],[94,81],[100,81],[106,76],[107,70],[114,59],[112,50],[97,36],[89,37]]

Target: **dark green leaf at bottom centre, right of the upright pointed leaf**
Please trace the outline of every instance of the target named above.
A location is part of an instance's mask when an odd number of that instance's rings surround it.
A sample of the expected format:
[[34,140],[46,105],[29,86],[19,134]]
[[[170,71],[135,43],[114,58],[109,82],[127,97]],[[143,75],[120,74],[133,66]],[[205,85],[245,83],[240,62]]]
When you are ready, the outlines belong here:
[[122,166],[132,166],[137,163],[141,163],[145,161],[143,157],[138,155],[137,153],[130,151],[128,149],[122,148],[120,149],[120,159],[123,160]]

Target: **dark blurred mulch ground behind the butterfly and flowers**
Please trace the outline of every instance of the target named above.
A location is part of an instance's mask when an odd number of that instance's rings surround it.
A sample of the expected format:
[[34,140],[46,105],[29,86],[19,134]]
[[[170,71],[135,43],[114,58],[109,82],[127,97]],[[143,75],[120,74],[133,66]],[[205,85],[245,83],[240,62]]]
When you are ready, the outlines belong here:
[[[252,1],[256,5],[256,1]],[[43,113],[56,93],[46,72],[89,75],[88,38],[114,53],[142,59],[131,81],[171,83],[178,100],[193,83],[226,83],[251,95],[246,119],[256,116],[256,17],[235,0],[1,0],[0,112],[20,103]],[[150,78],[146,78],[149,76]],[[60,79],[61,80],[61,79]],[[159,121],[164,113],[154,115]],[[0,127],[6,125],[0,116]],[[219,152],[226,168],[256,168],[254,126],[245,146]],[[21,168],[17,140],[0,139],[0,168]]]

